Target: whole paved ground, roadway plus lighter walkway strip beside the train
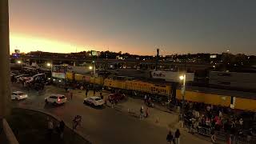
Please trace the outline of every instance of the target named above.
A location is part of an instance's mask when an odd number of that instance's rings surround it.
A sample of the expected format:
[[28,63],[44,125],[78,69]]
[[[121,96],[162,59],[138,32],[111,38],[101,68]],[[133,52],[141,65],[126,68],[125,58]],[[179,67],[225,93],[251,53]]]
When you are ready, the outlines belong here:
[[[140,99],[126,98],[114,108],[111,108],[110,104],[103,108],[94,108],[83,104],[83,98],[86,97],[84,90],[73,90],[74,96],[70,99],[65,90],[55,86],[46,86],[46,89],[39,93],[34,90],[24,90],[19,84],[13,84],[11,89],[22,90],[29,95],[26,100],[13,101],[12,106],[54,114],[70,127],[74,116],[81,115],[82,126],[77,128],[78,134],[92,143],[166,143],[166,134],[169,130],[174,132],[178,123],[177,114],[154,108],[150,108],[149,118],[139,120],[139,110],[144,103]],[[62,106],[46,105],[44,98],[56,93],[66,94],[68,102]],[[88,96],[92,95],[93,92],[90,91]],[[103,92],[102,95],[106,98],[109,93]],[[198,138],[182,130],[180,142],[206,144],[210,143],[210,139]]]

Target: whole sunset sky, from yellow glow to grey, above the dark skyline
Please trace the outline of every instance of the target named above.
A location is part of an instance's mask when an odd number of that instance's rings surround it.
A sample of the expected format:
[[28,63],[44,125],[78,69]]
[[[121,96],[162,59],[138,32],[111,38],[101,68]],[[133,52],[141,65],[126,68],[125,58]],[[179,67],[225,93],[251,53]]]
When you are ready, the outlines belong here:
[[254,0],[10,0],[10,51],[256,54]]

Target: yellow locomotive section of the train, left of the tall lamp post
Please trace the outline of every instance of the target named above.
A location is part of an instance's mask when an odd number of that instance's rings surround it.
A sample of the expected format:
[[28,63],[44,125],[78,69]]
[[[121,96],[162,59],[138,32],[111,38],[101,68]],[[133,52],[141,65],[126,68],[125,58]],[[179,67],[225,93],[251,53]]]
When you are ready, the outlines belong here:
[[106,90],[122,90],[126,93],[136,92],[137,94],[154,94],[159,96],[170,96],[171,86],[146,82],[134,78],[110,75],[107,78],[103,76],[93,77],[86,74],[66,73],[67,81],[85,82],[104,87]]

